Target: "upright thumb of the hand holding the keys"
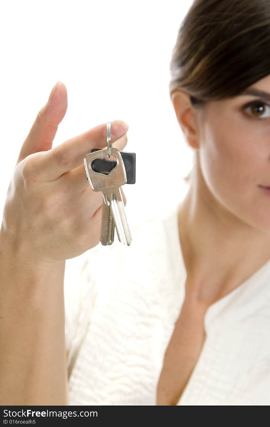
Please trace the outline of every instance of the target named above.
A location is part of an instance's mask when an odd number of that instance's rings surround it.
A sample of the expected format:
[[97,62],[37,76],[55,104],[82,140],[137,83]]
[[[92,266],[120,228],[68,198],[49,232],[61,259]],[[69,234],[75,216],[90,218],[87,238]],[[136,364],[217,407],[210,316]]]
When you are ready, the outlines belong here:
[[52,148],[58,125],[62,122],[67,108],[67,88],[64,83],[57,82],[50,93],[47,104],[38,111],[21,147],[17,164],[32,153],[48,151]]

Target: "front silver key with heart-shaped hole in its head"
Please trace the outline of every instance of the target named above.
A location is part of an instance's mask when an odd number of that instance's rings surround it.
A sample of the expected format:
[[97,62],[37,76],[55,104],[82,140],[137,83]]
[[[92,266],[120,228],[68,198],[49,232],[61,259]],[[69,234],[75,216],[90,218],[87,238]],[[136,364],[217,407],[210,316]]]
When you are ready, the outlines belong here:
[[111,155],[116,158],[117,164],[108,175],[97,173],[91,168],[91,163],[94,159],[105,158],[107,154],[107,149],[87,154],[84,158],[85,170],[92,189],[94,191],[102,191],[104,203],[107,206],[111,206],[119,241],[129,246],[131,234],[120,190],[121,185],[126,184],[126,170],[120,151],[117,148],[111,148]]

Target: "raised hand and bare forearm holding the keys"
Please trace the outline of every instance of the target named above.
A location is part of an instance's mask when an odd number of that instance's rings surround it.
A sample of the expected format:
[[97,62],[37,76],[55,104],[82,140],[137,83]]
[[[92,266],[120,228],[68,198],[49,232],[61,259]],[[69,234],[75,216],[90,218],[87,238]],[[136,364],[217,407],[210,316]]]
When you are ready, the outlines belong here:
[[[0,405],[65,405],[65,260],[100,241],[103,196],[84,158],[106,146],[106,123],[52,147],[68,107],[62,82],[23,142],[0,229]],[[126,146],[114,120],[111,143]],[[123,195],[125,201],[125,197]]]

